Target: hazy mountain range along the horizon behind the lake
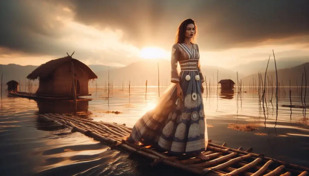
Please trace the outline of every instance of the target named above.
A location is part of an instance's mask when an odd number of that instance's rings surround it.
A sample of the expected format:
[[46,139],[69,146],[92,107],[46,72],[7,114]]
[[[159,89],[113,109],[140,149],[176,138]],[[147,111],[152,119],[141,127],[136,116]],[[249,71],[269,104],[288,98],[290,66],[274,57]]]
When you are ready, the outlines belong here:
[[[306,66],[307,72],[307,83],[309,77],[309,63],[304,63],[304,58],[302,57],[296,59],[295,62],[291,60],[280,58],[277,64],[277,73],[278,80],[283,81],[284,85],[289,85],[289,80],[291,80],[292,85],[296,85],[296,80],[298,85],[301,83],[302,73],[304,71],[304,66]],[[308,60],[308,59],[307,59]],[[293,60],[294,61],[294,60]],[[267,76],[271,79],[273,76],[273,82],[275,84],[275,72],[274,72],[274,64],[273,59],[270,60],[268,66]],[[289,65],[290,64],[290,65]],[[105,65],[88,65],[98,76],[97,84],[104,85],[108,82],[108,74],[110,83],[113,85],[121,86],[124,84],[125,86],[131,83],[131,86],[143,86],[148,81],[148,85],[158,85],[158,65],[159,65],[159,81],[160,85],[169,85],[171,78],[171,63],[165,59],[145,59],[142,61],[138,61],[135,63],[131,63],[125,67],[117,68],[117,67],[108,67]],[[254,65],[254,68],[252,68]],[[218,80],[221,79],[231,79],[237,84],[237,71],[239,81],[242,80],[244,84],[252,83],[252,78],[257,80],[258,83],[258,72],[262,73],[263,79],[265,75],[265,69],[267,66],[266,61],[254,61],[250,65],[243,64],[239,65],[231,70],[216,67],[216,66],[201,66],[201,71],[204,76],[206,76],[207,84],[209,85],[209,81],[211,85],[217,84],[217,73]],[[3,81],[2,83],[5,85],[6,82],[10,80],[20,81],[22,86],[25,84],[26,76],[31,73],[38,66],[28,65],[21,66],[17,64],[8,64],[1,65],[0,64],[0,74],[3,73]],[[179,68],[178,68],[179,69]],[[248,71],[245,71],[248,70]],[[37,84],[37,80],[34,84]],[[244,85],[243,84],[243,85]],[[92,86],[92,84],[89,84]]]

